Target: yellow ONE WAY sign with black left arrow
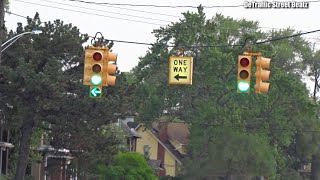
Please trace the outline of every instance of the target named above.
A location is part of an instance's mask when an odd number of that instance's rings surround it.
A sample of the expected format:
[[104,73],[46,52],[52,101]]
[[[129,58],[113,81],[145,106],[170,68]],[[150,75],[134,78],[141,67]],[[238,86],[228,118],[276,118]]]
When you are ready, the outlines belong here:
[[170,56],[169,84],[192,84],[192,61],[191,56]]

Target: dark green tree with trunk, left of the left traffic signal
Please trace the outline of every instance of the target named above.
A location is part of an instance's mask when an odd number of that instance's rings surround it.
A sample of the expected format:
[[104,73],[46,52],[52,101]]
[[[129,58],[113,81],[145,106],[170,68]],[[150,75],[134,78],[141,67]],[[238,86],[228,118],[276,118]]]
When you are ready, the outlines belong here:
[[[116,118],[108,107],[119,105],[118,95],[108,94],[108,101],[106,96],[92,99],[81,83],[82,44],[88,36],[61,20],[42,23],[36,14],[28,19],[25,27],[18,24],[16,32],[9,32],[8,38],[33,29],[43,33],[21,37],[19,43],[3,53],[0,67],[4,79],[0,84],[1,105],[7,104],[1,109],[6,114],[5,122],[16,132],[16,138],[20,138],[15,144],[15,148],[19,148],[16,180],[24,178],[30,141],[36,128],[50,133],[54,148],[84,152],[81,157],[88,166],[97,161],[92,159],[93,153],[97,156],[97,152],[109,154],[104,159],[108,161],[117,153],[116,144],[119,143],[111,135],[97,133]],[[103,151],[99,151],[101,146]]]

